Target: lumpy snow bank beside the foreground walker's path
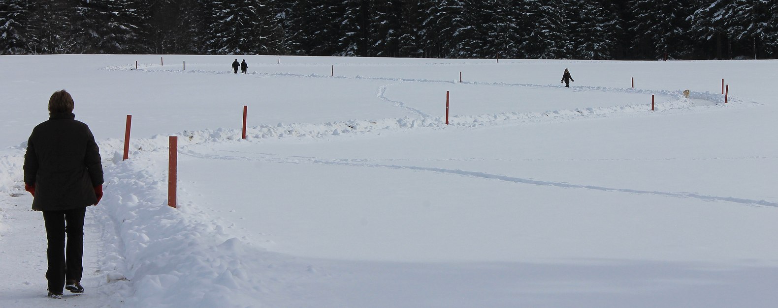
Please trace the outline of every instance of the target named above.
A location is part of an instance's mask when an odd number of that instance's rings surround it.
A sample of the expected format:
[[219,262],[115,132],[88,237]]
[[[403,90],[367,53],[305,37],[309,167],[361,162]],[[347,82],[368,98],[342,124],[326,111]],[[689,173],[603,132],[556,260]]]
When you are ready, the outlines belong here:
[[115,306],[239,307],[256,302],[247,295],[260,292],[261,284],[246,274],[241,260],[258,258],[262,251],[229,237],[225,229],[230,224],[212,220],[194,206],[166,206],[159,193],[165,191],[165,179],[158,176],[164,171],[158,167],[163,168],[151,161],[107,167],[103,202],[110,206],[89,208],[103,227],[100,272],[105,280],[100,292]]

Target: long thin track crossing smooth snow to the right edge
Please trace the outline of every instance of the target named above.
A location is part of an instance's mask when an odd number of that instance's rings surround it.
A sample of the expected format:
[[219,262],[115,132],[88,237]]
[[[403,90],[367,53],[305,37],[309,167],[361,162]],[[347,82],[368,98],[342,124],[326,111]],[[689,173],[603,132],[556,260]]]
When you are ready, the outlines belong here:
[[515,178],[507,175],[493,175],[493,174],[479,172],[479,171],[464,171],[461,169],[402,166],[398,164],[365,164],[365,163],[353,163],[349,161],[327,161],[327,160],[321,160],[321,159],[310,158],[310,157],[300,157],[300,159],[290,159],[290,158],[279,158],[279,157],[254,158],[254,157],[241,157],[241,156],[219,156],[213,154],[198,154],[195,151],[191,151],[191,150],[185,151],[183,154],[190,157],[203,158],[203,159],[226,159],[226,160],[238,160],[238,161],[264,160],[264,161],[275,162],[280,164],[313,163],[313,164],[341,165],[341,166],[352,166],[352,167],[389,168],[395,170],[432,171],[432,172],[438,172],[438,173],[443,173],[448,175],[462,175],[462,176],[468,176],[472,178],[492,179],[492,180],[499,180],[503,182],[511,182],[517,184],[526,184],[526,185],[553,186],[553,187],[559,187],[564,189],[590,189],[590,190],[598,190],[602,192],[625,192],[625,193],[633,193],[633,194],[641,194],[641,195],[668,196],[668,197],[675,197],[675,198],[693,198],[693,199],[700,199],[703,201],[711,201],[711,202],[724,201],[724,202],[740,203],[744,205],[778,207],[778,202],[769,202],[763,199],[754,200],[754,199],[744,199],[744,198],[734,198],[734,197],[706,196],[694,192],[658,192],[658,191],[649,191],[649,190],[640,190],[640,189],[615,189],[615,188],[595,186],[595,185],[579,185],[579,184],[569,184],[566,182],[538,181],[538,180],[532,180],[528,178]]

